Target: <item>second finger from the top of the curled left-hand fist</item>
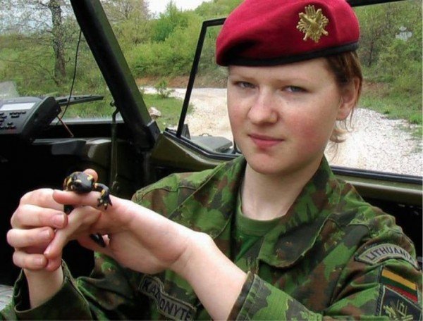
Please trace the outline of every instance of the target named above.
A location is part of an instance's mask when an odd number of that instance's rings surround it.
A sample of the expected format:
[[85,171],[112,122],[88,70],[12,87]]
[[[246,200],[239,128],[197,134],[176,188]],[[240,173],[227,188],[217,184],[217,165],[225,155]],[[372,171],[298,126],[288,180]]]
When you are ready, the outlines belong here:
[[[63,205],[61,210],[63,210]],[[42,208],[32,204],[20,205],[11,218],[13,228],[49,226],[61,229],[66,226],[67,222],[67,215],[63,211]]]

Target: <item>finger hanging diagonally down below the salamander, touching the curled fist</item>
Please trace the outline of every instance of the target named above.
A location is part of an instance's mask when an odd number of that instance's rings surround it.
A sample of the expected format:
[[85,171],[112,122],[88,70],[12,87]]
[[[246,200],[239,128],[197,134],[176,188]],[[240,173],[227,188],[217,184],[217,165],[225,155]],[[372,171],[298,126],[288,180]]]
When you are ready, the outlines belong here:
[[78,238],[81,234],[89,234],[91,225],[98,220],[101,211],[90,206],[75,208],[70,215],[68,215],[68,225],[64,229],[58,229],[51,241],[44,251],[47,258],[54,258],[60,256],[63,247],[71,239]]

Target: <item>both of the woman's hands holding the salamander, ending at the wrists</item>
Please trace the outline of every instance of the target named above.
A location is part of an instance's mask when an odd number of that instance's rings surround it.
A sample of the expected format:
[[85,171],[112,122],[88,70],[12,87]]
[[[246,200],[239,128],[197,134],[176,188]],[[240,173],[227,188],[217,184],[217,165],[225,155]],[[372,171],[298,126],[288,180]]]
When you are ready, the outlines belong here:
[[[97,173],[86,170],[97,179]],[[109,255],[140,272],[171,267],[184,253],[195,232],[132,201],[111,196],[105,209],[98,205],[99,192],[39,189],[25,194],[11,218],[8,243],[15,248],[13,261],[25,273],[51,272],[61,265],[63,247],[77,239],[82,246]],[[70,215],[63,205],[74,207]],[[104,235],[106,248],[90,234]]]

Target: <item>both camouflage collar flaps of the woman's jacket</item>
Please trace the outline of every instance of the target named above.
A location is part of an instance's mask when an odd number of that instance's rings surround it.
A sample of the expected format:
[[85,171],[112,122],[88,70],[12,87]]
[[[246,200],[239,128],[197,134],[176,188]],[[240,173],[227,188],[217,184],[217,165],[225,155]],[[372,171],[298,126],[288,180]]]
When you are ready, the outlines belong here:
[[[229,225],[235,215],[245,165],[245,158],[240,156],[217,166],[170,216],[195,231],[209,234],[228,256]],[[275,267],[288,267],[305,256],[333,206],[338,203],[340,194],[338,181],[326,158],[323,158],[288,213],[264,238],[259,260]]]

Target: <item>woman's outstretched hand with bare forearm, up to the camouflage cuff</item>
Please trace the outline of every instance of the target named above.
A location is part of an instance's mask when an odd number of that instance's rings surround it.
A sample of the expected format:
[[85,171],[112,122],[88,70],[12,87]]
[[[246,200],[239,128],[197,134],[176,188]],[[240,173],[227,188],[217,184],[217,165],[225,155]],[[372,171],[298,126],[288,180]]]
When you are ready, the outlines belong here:
[[[56,232],[47,248],[47,257],[59,255],[63,244],[77,237],[82,246],[111,256],[132,270],[149,274],[173,270],[191,284],[214,319],[228,317],[246,274],[219,250],[211,237],[114,196],[111,196],[113,206],[106,210],[97,208],[98,195],[98,192],[78,195],[54,191],[56,202],[75,206],[71,213],[75,218],[101,213],[90,229],[82,229],[82,234],[81,226],[70,215],[69,224]],[[87,237],[97,233],[104,235],[105,248]],[[225,296],[221,289],[225,289]]]

